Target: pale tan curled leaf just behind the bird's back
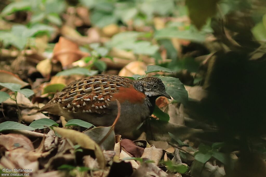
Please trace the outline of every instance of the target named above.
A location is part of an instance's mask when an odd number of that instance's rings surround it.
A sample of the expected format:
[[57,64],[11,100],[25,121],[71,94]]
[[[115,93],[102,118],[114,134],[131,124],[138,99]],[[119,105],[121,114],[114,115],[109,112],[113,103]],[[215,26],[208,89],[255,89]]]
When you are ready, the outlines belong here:
[[119,72],[119,76],[132,76],[134,74],[145,75],[146,64],[140,61],[133,61],[128,63],[122,70]]

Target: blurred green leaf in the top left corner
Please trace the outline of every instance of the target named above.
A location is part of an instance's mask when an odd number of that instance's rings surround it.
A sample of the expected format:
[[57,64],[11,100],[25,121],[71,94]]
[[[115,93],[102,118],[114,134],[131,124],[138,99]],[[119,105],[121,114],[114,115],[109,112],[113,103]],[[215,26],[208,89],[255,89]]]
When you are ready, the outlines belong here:
[[8,15],[11,13],[14,13],[16,11],[21,10],[30,10],[31,9],[31,3],[30,1],[16,1],[12,2],[9,5],[7,5],[1,12],[1,15]]

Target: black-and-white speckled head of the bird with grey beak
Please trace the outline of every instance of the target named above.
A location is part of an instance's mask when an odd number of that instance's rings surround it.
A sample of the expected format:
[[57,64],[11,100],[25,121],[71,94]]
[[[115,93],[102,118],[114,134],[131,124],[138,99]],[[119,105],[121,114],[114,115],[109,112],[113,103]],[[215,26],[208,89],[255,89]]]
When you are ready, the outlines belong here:
[[165,87],[161,79],[157,77],[144,77],[135,82],[135,87],[143,92],[147,97],[164,96],[171,99],[171,96],[165,92]]

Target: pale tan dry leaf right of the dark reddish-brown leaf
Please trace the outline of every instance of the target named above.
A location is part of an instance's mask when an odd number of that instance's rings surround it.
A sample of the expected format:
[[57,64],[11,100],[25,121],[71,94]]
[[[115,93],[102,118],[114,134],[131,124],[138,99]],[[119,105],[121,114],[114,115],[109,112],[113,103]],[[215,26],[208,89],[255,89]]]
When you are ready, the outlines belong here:
[[150,160],[153,160],[157,165],[162,156],[163,156],[163,149],[155,148],[155,146],[152,146],[150,148],[144,149],[141,158],[148,158]]

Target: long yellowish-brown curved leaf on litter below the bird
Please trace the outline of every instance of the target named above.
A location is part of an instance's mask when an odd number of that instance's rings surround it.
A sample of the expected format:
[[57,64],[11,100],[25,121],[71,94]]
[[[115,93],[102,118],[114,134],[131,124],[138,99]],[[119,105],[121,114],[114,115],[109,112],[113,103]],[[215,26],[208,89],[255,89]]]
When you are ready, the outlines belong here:
[[94,150],[95,156],[99,163],[99,167],[101,169],[105,167],[106,162],[100,146],[97,143],[95,143],[95,141],[93,141],[89,136],[85,135],[84,133],[71,129],[65,129],[59,127],[53,127],[53,129],[57,133],[59,133],[59,135],[61,135],[62,137],[68,138],[73,144],[78,144],[85,149]]

